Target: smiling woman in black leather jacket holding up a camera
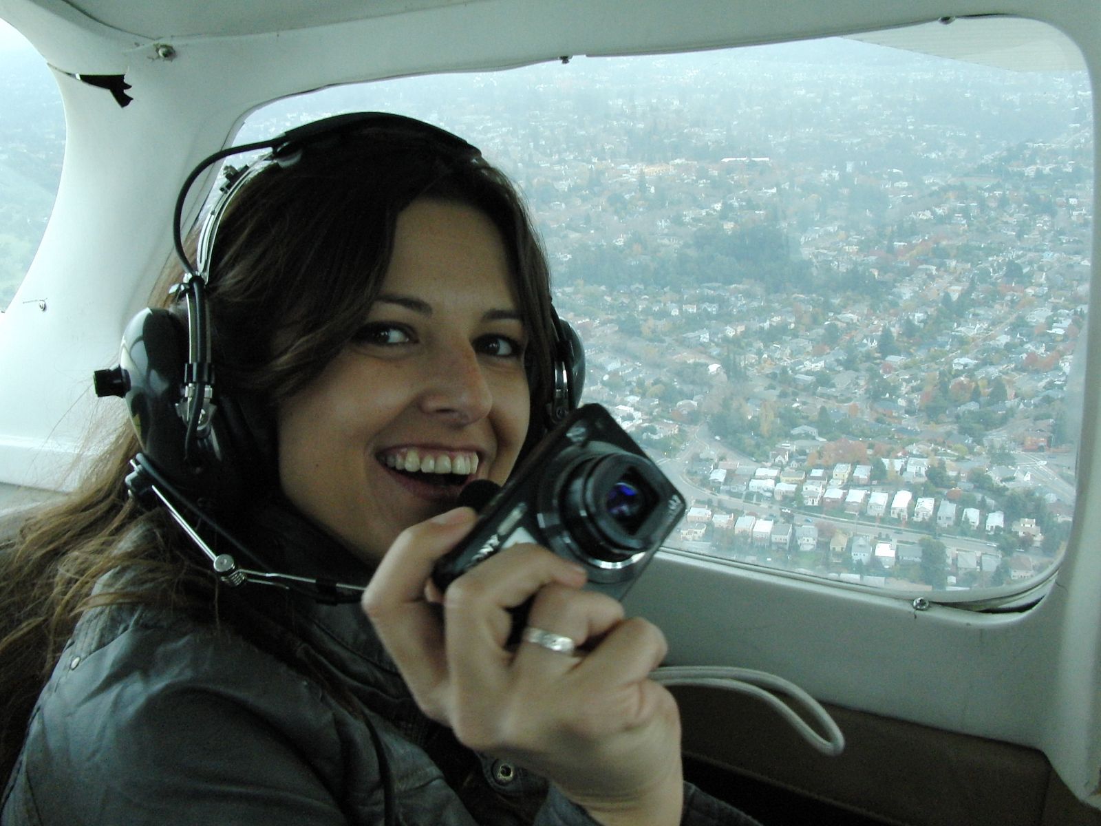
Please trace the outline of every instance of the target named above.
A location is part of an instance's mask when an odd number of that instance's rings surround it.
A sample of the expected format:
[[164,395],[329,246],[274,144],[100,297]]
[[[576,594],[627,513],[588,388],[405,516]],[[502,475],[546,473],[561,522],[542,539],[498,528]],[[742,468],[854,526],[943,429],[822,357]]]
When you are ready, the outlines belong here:
[[[503,482],[548,426],[547,268],[459,139],[392,116],[315,131],[208,227],[215,401],[253,444],[247,483],[199,506],[222,533],[197,530],[369,583],[362,609],[211,577],[128,498],[128,430],[6,555],[3,824],[750,823],[685,793],[676,706],[646,678],[661,634],[575,566],[516,546],[427,585],[472,524],[461,487]],[[533,596],[533,641],[509,646]],[[590,650],[547,642],[567,638]],[[48,682],[24,740],[28,672]]]

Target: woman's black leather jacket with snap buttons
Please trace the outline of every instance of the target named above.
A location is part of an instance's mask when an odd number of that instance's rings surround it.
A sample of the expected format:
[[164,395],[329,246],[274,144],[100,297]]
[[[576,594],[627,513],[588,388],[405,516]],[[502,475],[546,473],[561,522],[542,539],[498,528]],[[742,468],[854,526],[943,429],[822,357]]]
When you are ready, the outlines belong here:
[[[273,569],[316,574],[324,558],[366,579],[308,531],[268,539]],[[382,824],[388,804],[402,824],[592,823],[421,714],[358,604],[257,585],[232,596],[235,621],[88,611],[42,692],[0,823]],[[753,823],[695,789],[686,800],[686,824]]]

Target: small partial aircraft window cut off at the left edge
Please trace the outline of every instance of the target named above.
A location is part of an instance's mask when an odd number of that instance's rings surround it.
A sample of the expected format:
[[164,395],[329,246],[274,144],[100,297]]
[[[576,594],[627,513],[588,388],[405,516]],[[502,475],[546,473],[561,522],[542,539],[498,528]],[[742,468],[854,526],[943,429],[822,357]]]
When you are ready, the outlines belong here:
[[37,252],[65,150],[61,95],[41,55],[0,20],[0,311]]

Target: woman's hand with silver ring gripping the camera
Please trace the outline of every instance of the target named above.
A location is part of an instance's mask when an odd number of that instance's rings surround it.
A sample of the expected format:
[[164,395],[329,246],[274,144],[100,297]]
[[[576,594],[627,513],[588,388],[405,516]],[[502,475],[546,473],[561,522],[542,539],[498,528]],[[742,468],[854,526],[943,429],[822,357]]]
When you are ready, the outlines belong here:
[[[656,627],[624,619],[582,590],[579,567],[514,545],[456,579],[443,620],[426,597],[434,562],[469,532],[458,509],[404,531],[363,595],[363,609],[421,708],[470,748],[552,780],[607,826],[676,824],[683,797],[676,703],[648,678],[665,655]],[[508,645],[510,608],[587,651]]]

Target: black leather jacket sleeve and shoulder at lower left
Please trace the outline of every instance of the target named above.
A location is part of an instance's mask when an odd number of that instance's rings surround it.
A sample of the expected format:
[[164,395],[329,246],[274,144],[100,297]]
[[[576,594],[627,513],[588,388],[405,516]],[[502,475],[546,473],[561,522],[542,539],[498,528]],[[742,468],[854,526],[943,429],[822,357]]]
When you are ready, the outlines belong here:
[[163,628],[94,651],[76,638],[32,718],[4,823],[337,826],[375,802],[382,822],[380,786],[341,787],[380,776],[349,765],[373,749],[349,748],[316,686],[229,635],[201,643]]

